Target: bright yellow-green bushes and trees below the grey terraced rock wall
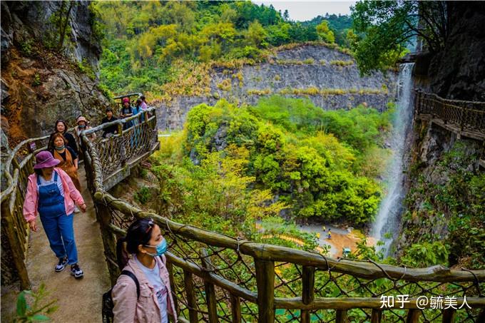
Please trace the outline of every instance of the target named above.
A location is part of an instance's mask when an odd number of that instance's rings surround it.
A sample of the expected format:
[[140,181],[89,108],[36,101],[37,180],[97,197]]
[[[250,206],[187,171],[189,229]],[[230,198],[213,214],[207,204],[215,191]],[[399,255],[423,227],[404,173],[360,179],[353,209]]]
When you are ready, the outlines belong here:
[[[238,165],[235,178],[254,192],[264,190],[277,196],[267,200],[284,203],[280,208],[286,209],[289,219],[344,221],[362,227],[372,221],[379,205],[381,188],[374,178],[387,156],[382,142],[391,128],[391,116],[392,109],[387,113],[364,107],[322,111],[311,101],[280,96],[261,99],[247,108],[221,100],[215,106],[202,104],[189,112],[181,142],[175,140],[182,150],[168,148],[165,143],[161,164],[176,165],[185,176],[200,176],[207,163],[213,165],[217,160],[221,165]],[[201,168],[194,171],[193,163]],[[173,167],[169,169],[171,174],[178,173]],[[232,178],[225,168],[220,169],[220,175]],[[205,183],[208,181],[202,180],[199,185]],[[224,190],[215,190],[220,191]],[[196,210],[206,210],[210,204]],[[231,206],[222,210],[214,207],[208,214],[248,215],[233,210],[240,203],[228,204]],[[223,214],[220,216],[228,220]],[[233,225],[237,223],[235,220]]]

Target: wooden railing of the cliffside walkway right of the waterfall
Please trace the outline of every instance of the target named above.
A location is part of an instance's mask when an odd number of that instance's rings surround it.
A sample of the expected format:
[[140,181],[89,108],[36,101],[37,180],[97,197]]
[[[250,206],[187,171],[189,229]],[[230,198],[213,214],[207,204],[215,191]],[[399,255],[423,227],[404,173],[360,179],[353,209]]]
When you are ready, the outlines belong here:
[[485,138],[485,102],[449,100],[419,90],[415,94],[414,109],[417,116],[431,116],[459,132],[468,130],[481,133]]

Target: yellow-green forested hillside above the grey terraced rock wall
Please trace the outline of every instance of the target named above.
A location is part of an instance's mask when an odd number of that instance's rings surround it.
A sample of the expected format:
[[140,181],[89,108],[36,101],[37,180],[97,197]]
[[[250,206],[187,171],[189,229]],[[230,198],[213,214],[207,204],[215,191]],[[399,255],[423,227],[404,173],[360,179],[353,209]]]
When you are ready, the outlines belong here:
[[181,73],[180,60],[261,61],[269,48],[307,41],[344,46],[349,28],[348,16],[301,24],[250,1],[98,1],[96,11],[105,32],[103,86],[154,96]]

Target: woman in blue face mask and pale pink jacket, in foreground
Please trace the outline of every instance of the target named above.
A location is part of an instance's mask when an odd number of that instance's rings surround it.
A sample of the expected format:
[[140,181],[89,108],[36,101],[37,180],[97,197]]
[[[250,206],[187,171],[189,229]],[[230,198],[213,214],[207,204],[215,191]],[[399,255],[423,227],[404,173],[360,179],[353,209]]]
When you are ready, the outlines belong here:
[[[129,259],[123,250],[123,242],[131,255]],[[160,227],[151,219],[136,220],[128,227],[126,237],[118,240],[118,265],[135,275],[140,296],[133,278],[120,275],[111,293],[114,322],[168,323],[168,314],[177,322],[165,267],[166,250],[167,242]]]

